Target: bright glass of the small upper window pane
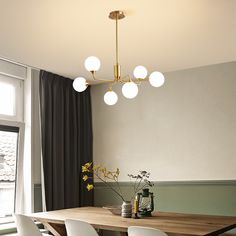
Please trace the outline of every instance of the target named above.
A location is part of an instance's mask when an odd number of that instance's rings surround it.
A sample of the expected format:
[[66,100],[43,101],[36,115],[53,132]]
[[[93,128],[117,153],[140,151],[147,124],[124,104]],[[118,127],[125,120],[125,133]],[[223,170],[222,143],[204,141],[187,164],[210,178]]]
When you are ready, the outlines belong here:
[[0,114],[15,116],[15,87],[0,82]]

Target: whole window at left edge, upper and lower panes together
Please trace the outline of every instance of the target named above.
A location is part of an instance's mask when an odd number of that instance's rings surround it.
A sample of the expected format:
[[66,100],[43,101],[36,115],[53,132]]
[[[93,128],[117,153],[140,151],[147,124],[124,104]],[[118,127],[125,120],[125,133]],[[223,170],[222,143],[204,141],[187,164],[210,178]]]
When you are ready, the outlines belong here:
[[23,85],[0,72],[0,225],[11,222],[15,210],[16,170],[24,144]]

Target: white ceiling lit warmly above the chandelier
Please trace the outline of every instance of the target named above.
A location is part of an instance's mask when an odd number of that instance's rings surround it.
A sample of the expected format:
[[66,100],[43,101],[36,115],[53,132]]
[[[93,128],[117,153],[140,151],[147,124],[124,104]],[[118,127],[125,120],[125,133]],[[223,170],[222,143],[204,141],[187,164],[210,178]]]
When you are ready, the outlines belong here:
[[96,55],[112,79],[118,9],[122,74],[236,60],[235,0],[1,0],[0,56],[74,78]]

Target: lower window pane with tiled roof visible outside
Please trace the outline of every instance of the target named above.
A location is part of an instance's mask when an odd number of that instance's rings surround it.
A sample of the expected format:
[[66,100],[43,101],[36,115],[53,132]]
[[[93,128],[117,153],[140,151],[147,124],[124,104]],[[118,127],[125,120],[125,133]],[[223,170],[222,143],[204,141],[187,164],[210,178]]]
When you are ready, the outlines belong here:
[[18,127],[0,125],[0,223],[14,212],[18,136]]

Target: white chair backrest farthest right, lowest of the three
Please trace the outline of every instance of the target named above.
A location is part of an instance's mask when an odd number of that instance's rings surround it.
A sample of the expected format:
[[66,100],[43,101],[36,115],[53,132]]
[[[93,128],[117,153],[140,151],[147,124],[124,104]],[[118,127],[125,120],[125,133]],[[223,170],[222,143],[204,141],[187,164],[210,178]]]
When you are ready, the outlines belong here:
[[167,234],[159,229],[130,226],[128,228],[128,236],[167,236]]

